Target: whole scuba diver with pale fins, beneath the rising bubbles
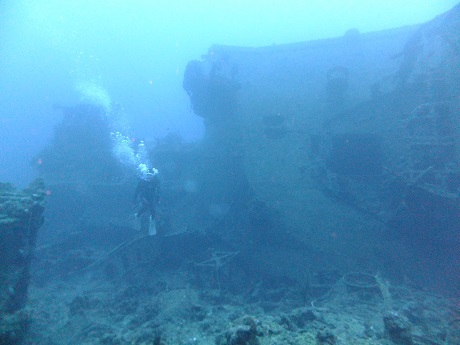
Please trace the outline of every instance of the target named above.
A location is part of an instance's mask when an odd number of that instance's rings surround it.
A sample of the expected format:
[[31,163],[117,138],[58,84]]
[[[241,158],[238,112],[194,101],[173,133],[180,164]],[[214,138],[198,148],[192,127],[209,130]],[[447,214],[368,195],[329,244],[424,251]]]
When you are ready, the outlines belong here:
[[[148,169],[145,164],[139,165],[140,178],[134,193],[133,202],[141,203],[139,211],[136,212],[136,218],[141,218],[147,212],[150,212],[148,219],[149,235],[156,234],[155,225],[155,206],[160,199],[160,180],[158,179],[158,170],[155,168]],[[145,223],[144,223],[145,224]],[[144,225],[145,226],[145,225]],[[141,229],[144,228],[141,222]]]

